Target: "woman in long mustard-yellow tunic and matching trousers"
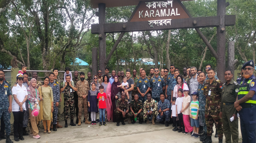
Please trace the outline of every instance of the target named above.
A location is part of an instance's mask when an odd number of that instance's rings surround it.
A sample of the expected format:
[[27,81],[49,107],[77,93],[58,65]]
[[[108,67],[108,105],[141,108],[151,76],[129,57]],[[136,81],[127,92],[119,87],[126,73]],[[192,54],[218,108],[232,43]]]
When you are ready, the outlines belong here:
[[[43,85],[38,87],[39,90],[39,98],[40,102],[40,112],[41,112],[41,117],[40,119],[43,120],[43,128],[44,131],[43,133],[48,132],[49,134],[51,133],[50,131],[50,122],[53,119],[53,91],[49,84],[49,77],[45,77],[43,80]],[[47,128],[46,128],[46,123],[47,123]]]

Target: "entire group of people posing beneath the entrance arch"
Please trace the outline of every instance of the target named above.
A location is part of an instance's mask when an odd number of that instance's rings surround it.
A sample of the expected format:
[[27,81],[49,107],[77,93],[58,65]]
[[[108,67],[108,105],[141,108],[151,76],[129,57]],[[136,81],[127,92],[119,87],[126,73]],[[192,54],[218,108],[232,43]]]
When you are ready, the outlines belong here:
[[[170,71],[169,71],[170,70]],[[124,71],[105,68],[97,75],[78,71],[72,73],[65,68],[64,82],[60,83],[58,69],[53,69],[49,77],[45,77],[43,84],[38,82],[37,73],[32,73],[28,82],[28,74],[21,71],[17,74],[17,85],[10,89],[4,80],[4,71],[0,70],[0,117],[5,124],[7,143],[10,139],[10,113],[14,116],[14,140],[23,140],[26,135],[24,128],[29,124],[30,135],[38,135],[38,121],[43,120],[44,133],[50,133],[62,128],[58,124],[60,113],[60,93],[64,92],[65,128],[70,111],[70,125],[82,124],[82,110],[84,110],[85,124],[107,125],[117,122],[117,126],[139,124],[143,122],[153,125],[159,121],[165,126],[173,123],[173,131],[189,134],[199,138],[203,143],[212,143],[213,125],[215,137],[222,143],[225,135],[227,143],[238,143],[238,116],[244,143],[255,143],[256,139],[256,77],[253,75],[254,62],[246,62],[241,69],[242,78],[233,80],[233,73],[226,70],[223,84],[215,74],[212,65],[207,64],[206,70],[196,67],[184,68],[183,74],[174,65],[170,69],[150,69],[146,76],[144,69],[136,69],[132,74],[130,69]],[[161,74],[159,74],[161,73]],[[219,73],[221,74],[221,73]],[[13,95],[13,100],[11,99]],[[9,101],[8,101],[9,99]],[[24,104],[25,103],[25,104]],[[38,116],[33,111],[38,109]],[[58,113],[59,112],[59,113]],[[28,115],[26,115],[26,113]],[[239,113],[239,114],[238,114]],[[76,114],[76,122],[74,116]],[[29,120],[28,120],[29,119]],[[128,120],[127,120],[128,119]],[[90,122],[91,121],[91,122]],[[2,132],[2,127],[1,127]]]

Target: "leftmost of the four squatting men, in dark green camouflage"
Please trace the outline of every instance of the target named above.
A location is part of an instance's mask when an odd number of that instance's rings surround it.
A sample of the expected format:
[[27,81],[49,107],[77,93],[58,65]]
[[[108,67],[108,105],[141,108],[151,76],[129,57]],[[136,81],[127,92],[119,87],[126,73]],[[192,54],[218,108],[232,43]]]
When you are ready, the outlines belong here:
[[125,125],[124,120],[129,118],[129,103],[128,100],[125,99],[125,92],[122,93],[121,98],[117,100],[117,106],[115,109],[115,117],[117,118],[117,126],[119,126],[120,121],[122,125]]

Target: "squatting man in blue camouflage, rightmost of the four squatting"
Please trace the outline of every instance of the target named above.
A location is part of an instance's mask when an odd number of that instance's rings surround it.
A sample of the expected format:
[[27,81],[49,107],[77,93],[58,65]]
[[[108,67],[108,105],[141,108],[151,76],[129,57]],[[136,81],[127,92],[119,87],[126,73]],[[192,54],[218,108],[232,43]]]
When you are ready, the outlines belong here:
[[157,104],[157,112],[159,113],[156,116],[156,120],[165,124],[165,126],[169,126],[170,119],[170,102],[165,99],[165,93],[160,93],[160,101]]

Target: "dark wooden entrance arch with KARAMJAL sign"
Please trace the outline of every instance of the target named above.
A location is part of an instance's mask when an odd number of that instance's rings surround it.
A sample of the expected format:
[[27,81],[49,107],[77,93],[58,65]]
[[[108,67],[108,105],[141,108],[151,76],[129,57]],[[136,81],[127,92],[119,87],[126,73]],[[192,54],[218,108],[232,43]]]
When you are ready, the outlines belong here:
[[[226,15],[226,0],[217,0],[217,16],[192,18],[181,1],[186,0],[91,0],[93,8],[99,8],[99,24],[91,25],[91,33],[99,34],[99,69],[105,70],[107,62],[125,32],[155,31],[195,28],[210,52],[217,59],[217,72],[224,73],[226,53],[226,26],[236,24],[235,15]],[[137,5],[130,19],[124,23],[106,23],[106,7]],[[199,28],[217,27],[217,52],[209,44]],[[106,33],[121,32],[113,49],[106,58]],[[106,60],[107,59],[107,60]],[[97,73],[97,49],[93,49],[93,74]],[[224,81],[224,74],[218,74]]]

